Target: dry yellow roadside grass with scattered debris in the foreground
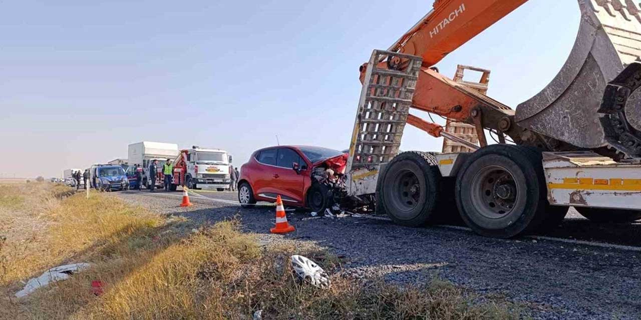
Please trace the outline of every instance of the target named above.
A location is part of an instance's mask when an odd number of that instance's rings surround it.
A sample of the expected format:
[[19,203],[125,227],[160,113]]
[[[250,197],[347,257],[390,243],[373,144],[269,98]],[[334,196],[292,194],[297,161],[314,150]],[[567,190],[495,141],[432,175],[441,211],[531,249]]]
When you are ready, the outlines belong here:
[[[0,194],[5,191],[0,188]],[[12,210],[28,212],[31,204],[26,196],[21,209]],[[49,207],[39,218],[46,227],[33,241],[13,237],[0,249],[0,288],[7,297],[0,300],[2,319],[251,319],[258,309],[263,319],[518,316],[504,303],[472,303],[476,297],[438,280],[395,287],[344,278],[334,272],[340,259],[328,252],[302,253],[334,274],[331,288],[299,284],[288,257],[301,252],[263,248],[253,235],[238,231],[237,221],[181,234],[180,220],[132,209],[111,196],[74,195]],[[17,252],[6,250],[19,246]],[[94,267],[28,298],[10,298],[19,280],[65,262]],[[92,280],[105,284],[104,294],[92,294]]]

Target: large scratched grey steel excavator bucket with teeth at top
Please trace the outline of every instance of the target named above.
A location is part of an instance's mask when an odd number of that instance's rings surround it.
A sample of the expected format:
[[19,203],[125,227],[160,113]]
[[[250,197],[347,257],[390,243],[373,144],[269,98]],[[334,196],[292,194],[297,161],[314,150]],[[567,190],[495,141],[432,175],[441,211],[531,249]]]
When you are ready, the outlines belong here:
[[641,92],[633,90],[641,72],[624,70],[641,56],[641,10],[631,0],[578,2],[581,24],[568,60],[547,87],[519,104],[515,119],[576,147],[612,147],[640,158]]

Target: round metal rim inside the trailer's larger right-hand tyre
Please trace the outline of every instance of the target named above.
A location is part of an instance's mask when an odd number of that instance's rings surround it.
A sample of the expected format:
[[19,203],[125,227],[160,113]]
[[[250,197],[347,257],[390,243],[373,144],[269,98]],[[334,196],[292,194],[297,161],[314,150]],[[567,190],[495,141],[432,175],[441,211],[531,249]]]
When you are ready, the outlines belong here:
[[472,203],[485,218],[504,218],[519,200],[514,176],[502,166],[487,166],[472,178]]

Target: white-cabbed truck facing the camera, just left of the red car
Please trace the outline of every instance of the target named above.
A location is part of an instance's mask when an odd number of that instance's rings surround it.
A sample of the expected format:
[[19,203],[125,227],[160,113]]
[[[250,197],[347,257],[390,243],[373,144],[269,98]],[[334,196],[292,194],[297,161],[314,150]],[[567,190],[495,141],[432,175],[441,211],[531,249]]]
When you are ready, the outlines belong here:
[[183,185],[189,189],[229,189],[231,162],[231,156],[221,149],[193,146],[180,150],[174,161],[172,190]]

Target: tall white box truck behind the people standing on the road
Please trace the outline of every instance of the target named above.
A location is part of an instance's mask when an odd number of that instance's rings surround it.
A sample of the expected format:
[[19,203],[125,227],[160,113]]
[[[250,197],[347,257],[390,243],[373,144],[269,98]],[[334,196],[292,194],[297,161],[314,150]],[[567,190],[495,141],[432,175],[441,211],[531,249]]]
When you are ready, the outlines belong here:
[[[142,141],[131,143],[128,149],[127,162],[131,166],[140,164],[142,166],[142,186],[149,188],[151,174],[156,175],[156,187],[163,185],[162,164],[167,159],[175,159],[178,156],[178,145],[176,143],[164,143],[153,141]],[[149,165],[152,161],[158,160],[157,172],[149,172]]]

